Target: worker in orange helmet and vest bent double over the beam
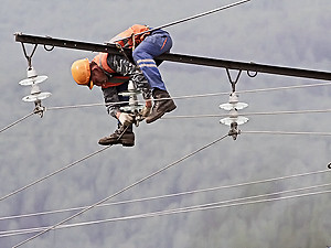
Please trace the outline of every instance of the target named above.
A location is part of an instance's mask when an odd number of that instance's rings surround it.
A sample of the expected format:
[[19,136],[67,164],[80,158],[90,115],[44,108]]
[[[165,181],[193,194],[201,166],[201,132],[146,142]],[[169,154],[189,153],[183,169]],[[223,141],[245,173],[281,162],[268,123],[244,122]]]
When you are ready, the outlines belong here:
[[[158,30],[132,39],[132,34],[140,33],[141,29],[148,28],[136,24],[115,37],[117,40],[119,36],[129,35],[128,39],[116,43],[124,47],[134,47],[135,43],[136,50],[132,56],[138,66],[130,63],[124,55],[108,53],[99,53],[92,62],[84,58],[72,65],[72,75],[78,85],[86,85],[90,89],[94,85],[102,87],[108,114],[118,120],[117,130],[109,137],[102,138],[99,144],[135,145],[134,116],[120,110],[120,107],[128,101],[128,97],[121,96],[120,93],[128,89],[129,80],[132,80],[143,93],[146,105],[140,115],[146,118],[146,122],[156,121],[166,112],[175,109],[153,61],[153,57],[170,51],[171,37],[166,31]],[[111,39],[110,42],[114,42],[115,39]],[[153,106],[151,95],[154,99]],[[125,103],[120,104],[120,101]]]

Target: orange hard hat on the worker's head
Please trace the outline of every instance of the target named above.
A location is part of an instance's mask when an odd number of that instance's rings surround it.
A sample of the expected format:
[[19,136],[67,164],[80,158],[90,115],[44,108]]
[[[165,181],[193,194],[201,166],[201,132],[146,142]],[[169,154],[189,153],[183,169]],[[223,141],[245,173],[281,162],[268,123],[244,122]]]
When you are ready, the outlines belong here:
[[90,67],[88,58],[75,61],[72,65],[72,75],[78,85],[86,85],[92,89]]

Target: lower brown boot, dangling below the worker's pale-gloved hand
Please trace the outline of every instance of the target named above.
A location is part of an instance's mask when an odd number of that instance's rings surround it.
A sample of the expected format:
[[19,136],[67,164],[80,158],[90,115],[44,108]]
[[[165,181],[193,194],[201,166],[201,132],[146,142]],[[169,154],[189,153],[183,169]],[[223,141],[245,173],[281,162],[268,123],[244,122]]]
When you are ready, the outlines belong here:
[[102,138],[99,140],[102,145],[110,144],[121,144],[124,147],[135,145],[135,133],[132,131],[132,126],[126,129],[125,126],[119,126],[118,129],[108,137]]

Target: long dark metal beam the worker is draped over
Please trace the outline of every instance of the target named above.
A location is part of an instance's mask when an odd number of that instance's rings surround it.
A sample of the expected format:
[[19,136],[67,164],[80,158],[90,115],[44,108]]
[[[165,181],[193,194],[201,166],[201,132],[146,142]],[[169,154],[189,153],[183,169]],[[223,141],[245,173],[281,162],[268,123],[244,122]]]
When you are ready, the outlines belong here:
[[[43,37],[43,36],[26,35],[22,33],[15,33],[15,41],[21,43],[29,43],[29,44],[41,44],[45,46],[58,46],[64,48],[121,54],[120,50],[117,48],[115,44],[97,44],[97,43],[53,39],[49,36]],[[124,48],[124,52],[127,54],[127,56],[131,57],[131,50]],[[264,65],[264,64],[256,64],[256,63],[236,62],[236,61],[225,61],[220,58],[200,57],[200,56],[192,56],[192,55],[184,55],[184,54],[166,53],[157,57],[157,60],[184,63],[184,64],[193,64],[193,65],[222,67],[227,69],[247,71],[252,73],[256,72],[256,73],[275,74],[275,75],[282,75],[282,76],[331,80],[331,72],[282,67],[282,66]]]

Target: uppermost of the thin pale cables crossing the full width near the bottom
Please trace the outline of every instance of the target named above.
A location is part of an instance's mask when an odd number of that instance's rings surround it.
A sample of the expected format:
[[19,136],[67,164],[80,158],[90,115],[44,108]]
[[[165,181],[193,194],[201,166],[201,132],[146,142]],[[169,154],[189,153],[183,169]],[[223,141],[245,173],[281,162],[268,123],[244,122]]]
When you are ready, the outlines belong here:
[[[296,179],[296,177],[303,177],[303,176],[309,176],[309,175],[323,174],[323,173],[329,173],[329,172],[331,172],[331,170],[312,171],[312,172],[306,172],[306,173],[300,173],[300,174],[292,174],[292,175],[285,175],[285,176],[265,179],[265,180],[257,180],[257,181],[250,181],[250,182],[244,182],[244,183],[223,185],[223,186],[217,186],[217,187],[194,190],[194,191],[188,191],[188,192],[179,192],[179,193],[167,194],[167,195],[161,195],[161,196],[151,196],[151,197],[145,197],[145,198],[137,198],[137,200],[128,200],[128,201],[121,201],[121,202],[115,202],[115,203],[100,204],[100,205],[98,205],[98,207],[106,207],[106,206],[114,206],[114,205],[121,205],[121,204],[130,204],[130,203],[146,202],[146,201],[162,200],[162,198],[168,198],[168,197],[184,196],[184,195],[189,195],[189,194],[205,193],[205,192],[211,192],[211,191],[228,190],[228,188],[235,188],[235,187],[241,187],[241,186],[249,186],[249,185],[261,184],[261,183],[271,183],[271,182],[281,181],[281,180],[290,180],[290,179]],[[0,217],[0,220],[8,220],[8,219],[23,218],[23,217],[33,217],[33,216],[41,216],[41,215],[49,215],[49,214],[58,214],[58,213],[73,212],[73,211],[81,211],[81,209],[84,209],[87,206],[81,206],[81,207],[72,207],[72,208],[67,208],[67,209],[49,211],[49,212],[43,212],[43,213],[32,213],[32,214],[17,215],[17,216]]]

